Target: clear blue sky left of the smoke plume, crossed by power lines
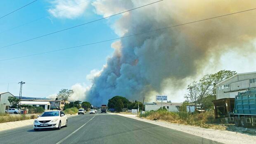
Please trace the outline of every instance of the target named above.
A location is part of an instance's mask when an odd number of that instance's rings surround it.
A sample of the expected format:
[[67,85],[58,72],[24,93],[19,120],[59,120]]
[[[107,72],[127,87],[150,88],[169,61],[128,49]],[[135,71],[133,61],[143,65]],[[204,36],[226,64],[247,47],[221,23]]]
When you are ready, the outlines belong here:
[[[0,15],[7,14],[29,2],[31,0],[3,0],[0,5]],[[94,7],[89,4],[83,14],[73,19],[50,16],[3,32],[49,15],[47,10],[52,7],[50,1],[38,0],[0,19],[0,47],[102,18],[102,16],[95,14]],[[110,23],[115,19],[104,19],[0,49],[0,60],[118,37],[110,27]],[[46,97],[57,93],[61,88],[71,88],[76,83],[89,84],[86,75],[91,70],[100,70],[102,65],[106,63],[106,58],[111,56],[114,51],[111,48],[111,43],[104,42],[78,49],[1,61],[0,91],[7,91],[9,83],[9,92],[19,95],[19,84],[17,83],[25,81],[24,96]]]

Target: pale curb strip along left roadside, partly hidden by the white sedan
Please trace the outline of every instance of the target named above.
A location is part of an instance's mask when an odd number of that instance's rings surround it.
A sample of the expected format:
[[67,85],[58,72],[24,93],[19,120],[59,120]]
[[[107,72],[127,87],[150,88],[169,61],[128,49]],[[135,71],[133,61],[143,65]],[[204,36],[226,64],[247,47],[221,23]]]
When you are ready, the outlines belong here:
[[[77,114],[66,114],[67,117],[71,117],[71,116],[77,116]],[[11,121],[11,122],[7,122],[7,123],[0,123],[0,131],[3,130],[10,130],[13,128],[20,128],[23,126],[27,126],[27,125],[33,125],[33,121],[35,119],[28,119],[28,120],[24,120],[24,121]]]

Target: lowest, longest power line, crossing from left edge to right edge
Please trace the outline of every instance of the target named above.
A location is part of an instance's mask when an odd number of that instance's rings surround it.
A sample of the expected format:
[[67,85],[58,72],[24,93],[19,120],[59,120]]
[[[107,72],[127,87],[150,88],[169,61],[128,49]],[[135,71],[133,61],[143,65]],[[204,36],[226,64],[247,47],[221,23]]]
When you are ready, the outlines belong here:
[[114,39],[108,39],[108,40],[103,40],[103,41],[99,41],[99,42],[93,42],[93,43],[89,43],[89,44],[83,44],[83,45],[79,45],[79,46],[72,46],[72,47],[68,47],[68,48],[64,48],[64,49],[57,49],[57,50],[46,51],[46,52],[42,52],[42,53],[34,53],[34,54],[26,55],[26,56],[19,56],[19,57],[14,57],[14,58],[7,58],[7,59],[3,59],[3,60],[0,60],[0,61],[6,61],[6,60],[24,58],[24,57],[28,57],[28,56],[36,56],[36,55],[45,54],[45,53],[52,53],[52,52],[56,52],[56,51],[63,51],[63,50],[66,50],[66,49],[74,49],[74,48],[78,48],[78,47],[82,47],[82,46],[88,46],[88,45],[92,45],[92,44],[98,44],[98,43],[103,43],[103,42],[109,42],[109,41],[113,41],[113,40],[117,40],[117,39],[123,39],[123,38],[126,38],[126,37],[132,37],[132,36],[136,36],[136,35],[142,35],[142,34],[145,34],[145,33],[156,32],[156,31],[159,31],[159,30],[165,30],[165,29],[168,29],[168,28],[174,28],[174,27],[178,27],[178,26],[183,26],[183,25],[187,25],[187,24],[190,24],[190,23],[197,23],[197,22],[200,22],[200,21],[206,21],[206,20],[210,20],[210,19],[216,19],[216,18],[219,18],[219,17],[223,17],[223,16],[229,16],[229,15],[232,15],[232,14],[238,14],[238,13],[242,13],[242,12],[248,12],[248,11],[255,10],[255,9],[256,9],[256,8],[254,8],[254,9],[248,9],[248,10],[244,10],[244,11],[240,11],[240,12],[234,12],[234,13],[230,13],[230,14],[224,14],[224,15],[221,15],[221,16],[215,16],[215,17],[211,17],[211,18],[207,18],[207,19],[201,19],[201,20],[191,21],[191,22],[187,22],[187,23],[182,23],[182,24],[174,25],[174,26],[168,26],[168,27],[159,28],[159,29],[155,29],[155,30],[149,30],[149,31],[146,31],[146,32],[136,33],[136,34],[133,34],[133,35],[127,35],[127,36],[123,36],[123,37],[117,37],[117,38],[114,38]]

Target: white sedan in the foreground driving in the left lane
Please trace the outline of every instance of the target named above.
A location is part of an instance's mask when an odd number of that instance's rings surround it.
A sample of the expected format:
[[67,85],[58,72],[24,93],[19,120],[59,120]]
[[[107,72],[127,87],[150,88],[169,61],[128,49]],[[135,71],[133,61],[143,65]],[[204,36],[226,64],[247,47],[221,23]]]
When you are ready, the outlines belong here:
[[57,128],[68,125],[67,116],[63,111],[45,111],[34,121],[34,130],[41,128]]

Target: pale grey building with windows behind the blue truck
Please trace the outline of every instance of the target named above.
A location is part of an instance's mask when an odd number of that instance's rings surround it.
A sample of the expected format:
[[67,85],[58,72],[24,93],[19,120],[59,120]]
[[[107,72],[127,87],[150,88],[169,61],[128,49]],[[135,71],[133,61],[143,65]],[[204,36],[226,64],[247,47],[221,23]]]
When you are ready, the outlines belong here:
[[235,74],[234,76],[216,84],[217,100],[235,98],[238,92],[256,87],[256,72]]

